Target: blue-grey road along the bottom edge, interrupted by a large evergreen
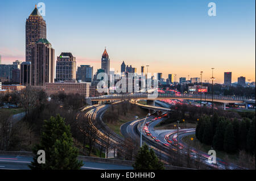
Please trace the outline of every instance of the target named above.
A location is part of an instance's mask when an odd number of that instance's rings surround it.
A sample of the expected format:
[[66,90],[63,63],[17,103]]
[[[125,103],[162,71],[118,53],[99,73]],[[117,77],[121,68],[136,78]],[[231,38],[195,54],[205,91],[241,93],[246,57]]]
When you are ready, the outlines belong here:
[[[29,170],[31,156],[0,155],[0,170]],[[132,170],[131,166],[114,165],[109,163],[83,162],[82,170]]]

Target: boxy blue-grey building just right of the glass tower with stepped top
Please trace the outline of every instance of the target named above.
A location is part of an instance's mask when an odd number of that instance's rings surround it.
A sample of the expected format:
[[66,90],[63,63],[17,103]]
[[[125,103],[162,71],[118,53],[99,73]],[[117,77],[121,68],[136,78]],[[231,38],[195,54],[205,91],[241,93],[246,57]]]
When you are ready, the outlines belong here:
[[92,82],[93,81],[93,67],[90,65],[80,65],[77,68],[77,81]]

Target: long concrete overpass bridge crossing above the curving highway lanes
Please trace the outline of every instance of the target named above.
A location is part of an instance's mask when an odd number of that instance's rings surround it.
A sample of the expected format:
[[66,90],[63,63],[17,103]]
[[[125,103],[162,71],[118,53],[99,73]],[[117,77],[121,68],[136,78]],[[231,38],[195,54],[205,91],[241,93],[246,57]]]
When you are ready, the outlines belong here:
[[230,95],[198,95],[198,94],[158,94],[158,96],[153,97],[152,94],[147,93],[131,93],[131,94],[113,94],[113,95],[102,95],[98,97],[89,97],[88,100],[92,102],[108,101],[108,100],[138,100],[143,99],[147,100],[147,104],[154,106],[154,100],[163,100],[163,99],[187,99],[187,100],[203,100],[207,102],[217,102],[223,103],[224,110],[226,110],[226,104],[229,103],[244,103],[255,104],[255,99],[251,99],[247,96],[230,96]]

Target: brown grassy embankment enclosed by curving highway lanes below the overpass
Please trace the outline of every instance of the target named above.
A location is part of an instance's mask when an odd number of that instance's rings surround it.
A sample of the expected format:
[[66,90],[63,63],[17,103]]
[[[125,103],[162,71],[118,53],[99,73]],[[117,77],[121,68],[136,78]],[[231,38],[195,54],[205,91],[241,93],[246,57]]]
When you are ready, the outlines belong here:
[[125,106],[121,104],[113,104],[112,106],[113,108],[109,108],[109,110],[105,112],[103,121],[112,131],[120,136],[123,136],[120,131],[122,124],[134,120],[135,116],[139,118],[145,117],[148,113],[147,110],[143,110],[135,104],[130,103],[127,104],[126,113],[124,113]]

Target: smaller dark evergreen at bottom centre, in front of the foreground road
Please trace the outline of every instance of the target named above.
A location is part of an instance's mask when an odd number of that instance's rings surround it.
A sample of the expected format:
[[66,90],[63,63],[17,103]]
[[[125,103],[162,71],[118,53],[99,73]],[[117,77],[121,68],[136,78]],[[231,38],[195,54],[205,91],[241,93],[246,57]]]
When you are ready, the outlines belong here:
[[135,163],[133,164],[135,170],[163,170],[163,163],[156,157],[152,149],[144,144],[136,156]]

